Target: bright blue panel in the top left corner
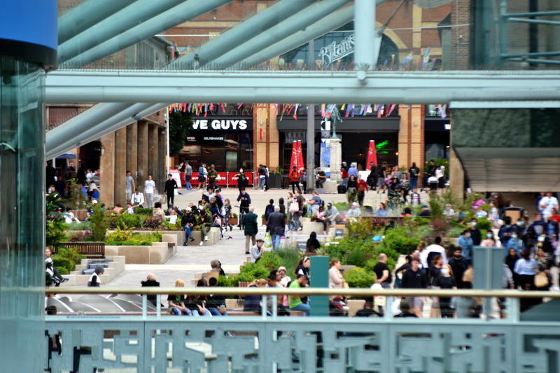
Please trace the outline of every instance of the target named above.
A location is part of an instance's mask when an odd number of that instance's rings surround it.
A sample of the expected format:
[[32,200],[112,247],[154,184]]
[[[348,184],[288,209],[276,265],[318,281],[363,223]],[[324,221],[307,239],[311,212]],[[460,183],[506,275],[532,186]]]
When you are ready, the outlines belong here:
[[0,38],[57,49],[57,1],[2,1]]

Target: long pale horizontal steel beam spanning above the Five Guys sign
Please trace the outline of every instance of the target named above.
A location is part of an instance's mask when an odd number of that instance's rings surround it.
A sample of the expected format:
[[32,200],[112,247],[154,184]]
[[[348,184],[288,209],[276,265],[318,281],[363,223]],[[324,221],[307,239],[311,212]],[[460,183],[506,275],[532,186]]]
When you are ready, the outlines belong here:
[[558,71],[54,71],[49,103],[395,102],[558,99]]

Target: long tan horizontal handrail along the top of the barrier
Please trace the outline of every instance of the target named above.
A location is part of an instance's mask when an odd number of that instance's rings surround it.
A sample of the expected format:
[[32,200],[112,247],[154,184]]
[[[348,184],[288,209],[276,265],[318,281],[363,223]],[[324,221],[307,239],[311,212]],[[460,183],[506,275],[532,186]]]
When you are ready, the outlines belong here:
[[113,287],[50,287],[46,294],[138,294],[138,295],[344,295],[393,297],[512,297],[560,298],[560,292],[526,290],[439,290],[439,289],[370,289],[370,288],[113,288]]

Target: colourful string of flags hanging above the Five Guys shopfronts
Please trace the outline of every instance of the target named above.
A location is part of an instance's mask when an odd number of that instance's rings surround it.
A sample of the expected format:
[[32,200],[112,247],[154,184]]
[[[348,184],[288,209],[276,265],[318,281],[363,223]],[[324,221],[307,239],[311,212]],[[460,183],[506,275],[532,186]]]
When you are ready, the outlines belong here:
[[[237,110],[239,110],[244,105],[251,104],[238,103],[231,105],[236,106]],[[297,110],[301,106],[301,104],[272,104],[272,108],[280,114],[280,120],[283,120],[284,115],[292,116],[297,120]],[[169,113],[182,111],[206,118],[210,111],[217,110],[226,113],[227,107],[228,104],[224,103],[176,103],[169,105]],[[366,116],[368,114],[377,116],[377,118],[383,118],[390,116],[396,107],[397,104],[342,104],[340,106],[337,104],[321,104],[321,117],[330,118],[332,112],[337,108],[341,116],[344,113],[344,118],[354,118],[356,115]],[[410,110],[410,105],[403,105],[401,106],[402,108]],[[436,110],[440,118],[447,118],[447,104],[436,105]]]

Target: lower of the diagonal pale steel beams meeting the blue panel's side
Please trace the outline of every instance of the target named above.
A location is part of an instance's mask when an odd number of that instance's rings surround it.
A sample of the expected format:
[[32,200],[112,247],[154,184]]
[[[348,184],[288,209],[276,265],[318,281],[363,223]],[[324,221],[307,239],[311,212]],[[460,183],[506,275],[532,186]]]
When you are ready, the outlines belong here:
[[[118,1],[116,1],[118,2]],[[137,0],[58,46],[58,63],[68,61],[138,24],[159,15],[183,0]]]

